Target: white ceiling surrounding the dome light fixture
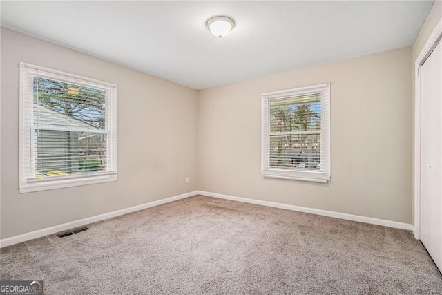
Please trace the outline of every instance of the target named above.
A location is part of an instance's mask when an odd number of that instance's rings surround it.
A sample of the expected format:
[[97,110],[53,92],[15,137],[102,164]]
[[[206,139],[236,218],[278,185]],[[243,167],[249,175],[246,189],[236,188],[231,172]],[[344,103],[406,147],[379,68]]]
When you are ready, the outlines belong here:
[[[195,89],[413,44],[432,1],[7,2],[1,26]],[[213,15],[235,19],[217,39]]]

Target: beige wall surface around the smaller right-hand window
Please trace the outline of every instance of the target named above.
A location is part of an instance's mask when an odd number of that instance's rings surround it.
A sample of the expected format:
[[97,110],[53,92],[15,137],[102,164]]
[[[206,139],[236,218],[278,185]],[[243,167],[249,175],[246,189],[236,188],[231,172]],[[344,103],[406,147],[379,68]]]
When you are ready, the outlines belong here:
[[[410,223],[411,59],[401,48],[200,91],[199,189]],[[263,178],[261,93],[327,82],[332,180]]]

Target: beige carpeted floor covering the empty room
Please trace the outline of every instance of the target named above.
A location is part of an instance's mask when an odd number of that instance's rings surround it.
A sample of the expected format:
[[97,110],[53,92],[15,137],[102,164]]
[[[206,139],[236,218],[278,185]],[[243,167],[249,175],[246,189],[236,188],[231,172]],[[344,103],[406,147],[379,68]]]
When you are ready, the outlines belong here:
[[1,249],[45,294],[442,294],[409,231],[194,196]]

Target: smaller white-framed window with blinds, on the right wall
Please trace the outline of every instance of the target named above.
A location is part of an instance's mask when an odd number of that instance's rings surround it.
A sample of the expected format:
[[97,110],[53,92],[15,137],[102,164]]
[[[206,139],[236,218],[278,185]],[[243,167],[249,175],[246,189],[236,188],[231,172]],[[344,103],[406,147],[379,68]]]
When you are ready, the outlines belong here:
[[330,85],[262,94],[262,175],[330,180]]

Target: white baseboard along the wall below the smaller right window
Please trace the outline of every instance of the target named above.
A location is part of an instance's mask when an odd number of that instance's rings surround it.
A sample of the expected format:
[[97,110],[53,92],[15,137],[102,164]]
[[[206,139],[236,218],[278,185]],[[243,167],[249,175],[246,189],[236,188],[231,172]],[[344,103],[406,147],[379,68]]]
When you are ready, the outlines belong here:
[[384,227],[393,227],[395,229],[405,229],[407,231],[414,231],[414,227],[412,225],[410,225],[408,223],[404,223],[404,222],[397,222],[397,221],[392,221],[392,220],[358,216],[358,215],[340,213],[340,212],[334,212],[334,211],[326,211],[326,210],[321,210],[321,209],[300,207],[300,206],[281,204],[281,203],[276,203],[276,202],[254,200],[254,199],[242,198],[242,197],[236,197],[236,196],[227,196],[227,195],[222,195],[221,193],[211,193],[209,191],[197,191],[197,192],[199,195],[208,196],[208,197],[221,198],[221,199],[238,201],[238,202],[245,202],[245,203],[250,203],[250,204],[258,204],[258,205],[267,206],[267,207],[275,207],[275,208],[287,209],[287,210],[291,210],[291,211],[300,211],[300,212],[328,216],[328,217],[334,217],[334,218],[340,218],[340,219],[345,219],[345,220],[365,222],[365,223],[370,223],[372,225],[383,225]]

